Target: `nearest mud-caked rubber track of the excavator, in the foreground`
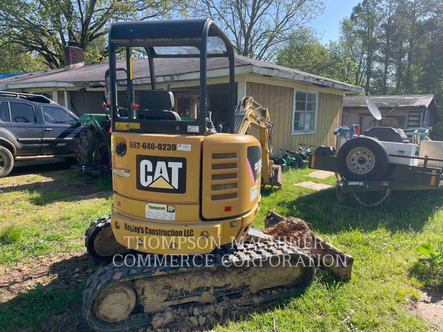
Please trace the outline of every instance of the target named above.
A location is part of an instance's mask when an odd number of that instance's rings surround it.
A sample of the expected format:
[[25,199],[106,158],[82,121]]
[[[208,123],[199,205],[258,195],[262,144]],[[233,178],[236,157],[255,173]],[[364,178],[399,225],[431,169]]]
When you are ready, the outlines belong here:
[[[215,303],[224,296],[249,296],[276,287],[302,291],[314,280],[314,261],[288,242],[237,244],[236,249],[216,251],[208,254],[210,259],[189,259],[189,266],[177,264],[182,256],[165,255],[166,264],[151,264],[159,256],[145,255],[144,264],[128,256],[122,266],[116,262],[100,267],[83,292],[85,320],[96,331],[147,327],[155,313],[171,306]],[[169,264],[174,257],[176,264]],[[272,292],[260,302],[281,296]]]

